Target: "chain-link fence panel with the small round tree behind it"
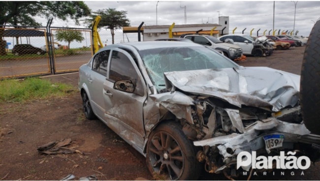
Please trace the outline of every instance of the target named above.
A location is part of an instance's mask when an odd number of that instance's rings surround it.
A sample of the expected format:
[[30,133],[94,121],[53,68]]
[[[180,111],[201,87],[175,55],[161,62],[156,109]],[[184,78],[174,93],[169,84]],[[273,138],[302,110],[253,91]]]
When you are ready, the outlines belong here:
[[[92,55],[91,30],[51,29],[51,44],[54,46],[54,70],[57,73],[78,71]],[[50,47],[47,47],[50,49]]]

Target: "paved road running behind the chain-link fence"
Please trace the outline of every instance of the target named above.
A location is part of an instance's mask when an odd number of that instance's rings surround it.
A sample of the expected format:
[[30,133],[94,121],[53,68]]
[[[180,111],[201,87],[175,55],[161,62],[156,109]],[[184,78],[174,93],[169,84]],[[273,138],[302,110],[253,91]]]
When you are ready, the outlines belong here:
[[[56,56],[56,71],[68,72],[70,70],[78,70],[78,68],[82,64],[87,63],[91,57],[91,52],[80,52],[79,55],[73,56]],[[0,78],[48,73],[50,73],[49,58],[0,61]]]

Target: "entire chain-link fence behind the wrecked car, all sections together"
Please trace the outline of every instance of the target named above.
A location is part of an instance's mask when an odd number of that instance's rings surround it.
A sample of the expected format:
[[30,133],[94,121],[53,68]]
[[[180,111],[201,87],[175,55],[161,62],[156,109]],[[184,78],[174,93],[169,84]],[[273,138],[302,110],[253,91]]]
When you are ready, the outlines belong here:
[[[50,27],[50,24],[47,27],[8,26],[0,29],[0,79],[75,72],[91,59],[91,29]],[[113,41],[138,41],[136,32],[114,32],[112,37],[110,30],[98,30],[100,48]]]

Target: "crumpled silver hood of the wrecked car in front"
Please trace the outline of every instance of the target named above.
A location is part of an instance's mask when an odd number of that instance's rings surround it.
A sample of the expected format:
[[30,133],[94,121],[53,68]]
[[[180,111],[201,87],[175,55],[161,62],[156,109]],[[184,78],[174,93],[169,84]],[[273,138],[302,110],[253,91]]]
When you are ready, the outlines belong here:
[[213,96],[232,105],[267,108],[277,112],[295,106],[300,76],[268,67],[239,67],[165,72],[172,86],[196,95]]

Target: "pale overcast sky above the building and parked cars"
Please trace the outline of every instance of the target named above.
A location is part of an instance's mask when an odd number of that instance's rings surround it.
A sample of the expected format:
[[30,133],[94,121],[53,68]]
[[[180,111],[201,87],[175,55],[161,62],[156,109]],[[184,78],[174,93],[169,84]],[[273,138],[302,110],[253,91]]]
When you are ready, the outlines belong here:
[[[85,1],[93,11],[116,8],[128,12],[131,26],[156,25],[156,5],[158,1]],[[243,29],[249,33],[255,29],[272,30],[274,1],[159,1],[158,25],[184,24],[184,7],[187,10],[187,24],[218,23],[221,16],[229,16],[229,31],[237,27],[236,33]],[[320,1],[298,1],[296,5],[295,30],[299,35],[309,36],[313,21],[320,18]],[[45,21],[44,21],[45,22]],[[294,2],[275,1],[275,30],[293,30]],[[43,23],[45,25],[46,23]],[[71,26],[72,22],[54,20],[54,26]]]

